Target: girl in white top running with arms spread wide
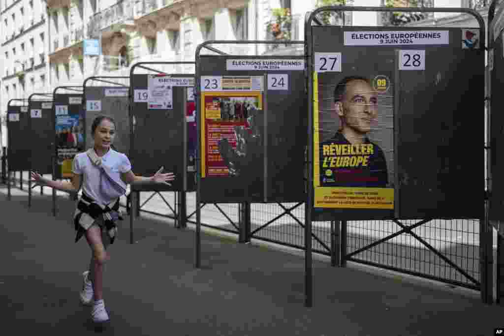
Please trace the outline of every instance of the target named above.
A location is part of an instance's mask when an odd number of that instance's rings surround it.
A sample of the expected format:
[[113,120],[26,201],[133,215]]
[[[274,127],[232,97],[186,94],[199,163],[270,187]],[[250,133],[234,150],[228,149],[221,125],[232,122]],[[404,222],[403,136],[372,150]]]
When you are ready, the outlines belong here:
[[107,322],[108,313],[103,301],[103,269],[110,259],[107,246],[113,243],[117,233],[116,221],[122,220],[119,197],[127,184],[164,183],[175,178],[173,173],[162,174],[163,167],[154,176],[138,176],[131,170],[128,157],[112,148],[115,137],[114,119],[99,116],[91,125],[93,148],[75,156],[72,181],[52,181],[31,172],[35,186],[44,185],[54,189],[77,193],[82,183],[82,196],[74,216],[77,242],[83,235],[91,248],[89,270],[83,273],[84,284],[80,300],[92,306],[94,322]]

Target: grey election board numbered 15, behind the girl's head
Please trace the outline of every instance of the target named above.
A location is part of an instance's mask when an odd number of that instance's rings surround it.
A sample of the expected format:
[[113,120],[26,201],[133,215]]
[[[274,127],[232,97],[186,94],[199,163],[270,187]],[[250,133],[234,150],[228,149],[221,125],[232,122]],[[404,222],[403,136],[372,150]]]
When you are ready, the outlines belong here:
[[[129,92],[126,96],[114,96],[110,90],[128,91],[128,87],[118,86],[87,86],[85,91],[85,102],[83,107],[86,108],[86,102],[99,101],[101,110],[86,110],[86,148],[91,148],[94,145],[93,137],[91,136],[91,124],[99,115],[111,116],[115,121],[116,133],[113,146],[116,151],[130,155],[130,98]],[[115,93],[117,94],[117,93]]]

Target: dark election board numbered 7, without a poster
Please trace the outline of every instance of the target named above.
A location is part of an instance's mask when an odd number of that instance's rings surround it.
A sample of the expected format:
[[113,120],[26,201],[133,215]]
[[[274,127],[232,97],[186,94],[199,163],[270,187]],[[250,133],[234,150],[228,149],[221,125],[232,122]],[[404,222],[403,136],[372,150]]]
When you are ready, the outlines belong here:
[[[34,110],[40,110],[40,113],[34,113]],[[52,101],[30,100],[28,112],[31,170],[40,174],[52,174],[52,160],[56,150]]]

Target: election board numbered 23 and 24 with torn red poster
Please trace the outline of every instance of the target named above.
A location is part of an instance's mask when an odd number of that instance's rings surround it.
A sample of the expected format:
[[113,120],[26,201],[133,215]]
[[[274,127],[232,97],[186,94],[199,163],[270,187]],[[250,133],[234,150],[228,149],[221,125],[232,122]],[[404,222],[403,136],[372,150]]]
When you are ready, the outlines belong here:
[[301,57],[202,55],[201,201],[303,201]]

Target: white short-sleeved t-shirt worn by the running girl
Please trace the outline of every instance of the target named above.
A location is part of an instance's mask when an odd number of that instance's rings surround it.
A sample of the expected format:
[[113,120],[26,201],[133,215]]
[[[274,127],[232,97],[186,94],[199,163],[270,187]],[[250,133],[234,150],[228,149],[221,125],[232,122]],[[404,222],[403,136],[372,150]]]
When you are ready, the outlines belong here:
[[[113,176],[114,180],[119,181],[124,189],[126,189],[126,184],[120,179],[120,174],[131,170],[131,162],[128,157],[110,149],[104,156],[102,156],[101,162],[109,168],[112,175],[117,174],[116,176]],[[72,165],[72,172],[74,174],[82,175],[83,192],[93,198],[97,203],[106,205],[114,200],[108,198],[100,192],[100,170],[91,162],[86,152],[79,153],[75,156]]]

